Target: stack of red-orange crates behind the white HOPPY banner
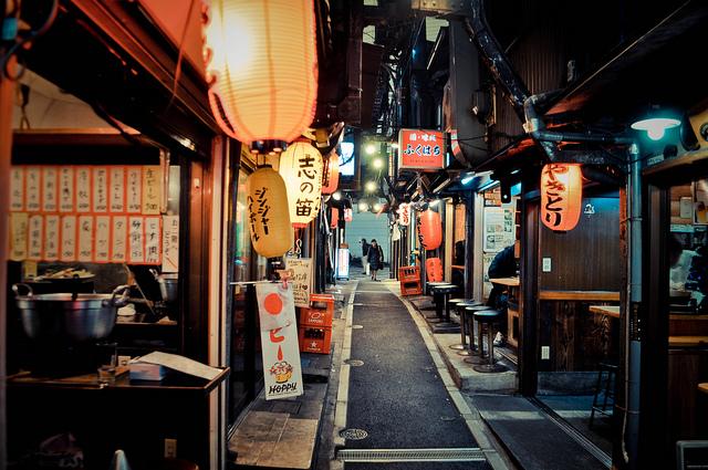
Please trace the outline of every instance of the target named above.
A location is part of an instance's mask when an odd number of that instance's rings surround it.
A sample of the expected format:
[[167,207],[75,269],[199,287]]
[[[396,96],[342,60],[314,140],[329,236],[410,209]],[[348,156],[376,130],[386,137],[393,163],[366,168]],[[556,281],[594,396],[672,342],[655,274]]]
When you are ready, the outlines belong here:
[[330,354],[334,296],[311,294],[310,307],[300,309],[300,351],[302,353]]

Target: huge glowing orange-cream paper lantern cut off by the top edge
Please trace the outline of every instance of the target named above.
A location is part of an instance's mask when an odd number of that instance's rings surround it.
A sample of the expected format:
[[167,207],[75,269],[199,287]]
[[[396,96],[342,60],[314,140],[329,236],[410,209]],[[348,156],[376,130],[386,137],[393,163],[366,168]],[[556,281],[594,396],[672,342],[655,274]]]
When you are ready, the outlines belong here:
[[238,140],[296,138],[317,96],[314,0],[204,0],[211,112]]

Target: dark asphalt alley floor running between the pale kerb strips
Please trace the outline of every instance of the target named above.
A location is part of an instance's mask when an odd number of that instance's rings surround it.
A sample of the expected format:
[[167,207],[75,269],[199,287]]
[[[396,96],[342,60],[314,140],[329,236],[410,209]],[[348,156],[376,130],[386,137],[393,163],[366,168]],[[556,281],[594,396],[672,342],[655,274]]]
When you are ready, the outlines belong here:
[[[473,449],[406,306],[382,282],[358,282],[353,303],[346,427],[367,432],[346,449]],[[352,363],[352,361],[350,361]],[[346,470],[488,469],[487,462],[345,463]]]

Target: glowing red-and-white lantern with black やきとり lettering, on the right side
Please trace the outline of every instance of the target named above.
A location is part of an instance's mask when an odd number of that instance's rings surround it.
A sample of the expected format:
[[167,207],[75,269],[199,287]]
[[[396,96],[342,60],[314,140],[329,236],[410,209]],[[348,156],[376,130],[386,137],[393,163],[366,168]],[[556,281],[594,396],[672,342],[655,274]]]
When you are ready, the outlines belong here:
[[541,221],[555,231],[572,230],[583,205],[583,177],[577,164],[549,164],[541,171]]

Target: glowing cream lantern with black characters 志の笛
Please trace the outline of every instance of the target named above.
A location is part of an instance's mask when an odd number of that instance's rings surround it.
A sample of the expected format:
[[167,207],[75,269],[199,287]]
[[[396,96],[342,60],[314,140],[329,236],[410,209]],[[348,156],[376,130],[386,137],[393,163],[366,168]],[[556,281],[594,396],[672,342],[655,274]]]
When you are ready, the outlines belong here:
[[288,207],[293,227],[305,227],[320,212],[322,155],[300,139],[280,155],[280,176],[288,188]]

